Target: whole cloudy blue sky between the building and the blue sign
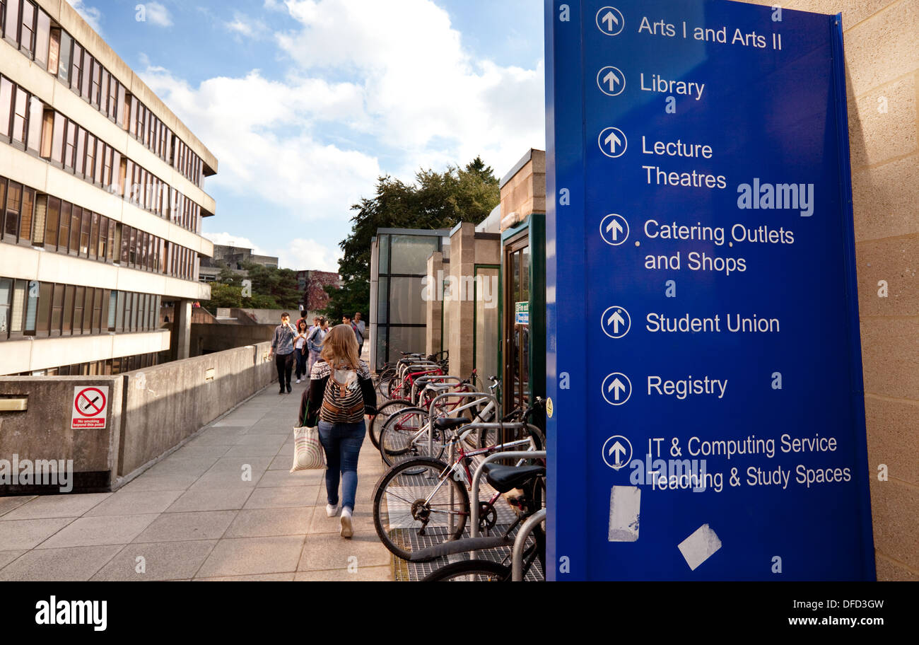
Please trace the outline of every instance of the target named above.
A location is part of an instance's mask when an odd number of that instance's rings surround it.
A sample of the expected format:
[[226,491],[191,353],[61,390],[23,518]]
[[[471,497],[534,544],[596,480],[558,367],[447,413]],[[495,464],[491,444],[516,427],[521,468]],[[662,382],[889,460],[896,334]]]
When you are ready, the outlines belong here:
[[217,155],[205,234],[281,266],[336,270],[379,175],[545,144],[542,0],[71,4]]

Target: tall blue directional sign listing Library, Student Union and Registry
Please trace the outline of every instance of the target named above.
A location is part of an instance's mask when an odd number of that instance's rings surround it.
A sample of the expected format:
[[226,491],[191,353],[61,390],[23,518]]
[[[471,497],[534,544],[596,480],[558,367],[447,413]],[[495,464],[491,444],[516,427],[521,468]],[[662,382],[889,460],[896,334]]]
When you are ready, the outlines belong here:
[[841,18],[545,7],[547,577],[873,579]]

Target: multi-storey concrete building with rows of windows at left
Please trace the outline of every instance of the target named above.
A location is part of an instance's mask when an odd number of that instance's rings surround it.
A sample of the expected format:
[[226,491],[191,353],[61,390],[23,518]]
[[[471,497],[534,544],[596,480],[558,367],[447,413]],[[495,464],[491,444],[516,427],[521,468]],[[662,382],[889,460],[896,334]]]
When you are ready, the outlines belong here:
[[217,160],[62,0],[0,0],[0,374],[111,374],[193,300]]

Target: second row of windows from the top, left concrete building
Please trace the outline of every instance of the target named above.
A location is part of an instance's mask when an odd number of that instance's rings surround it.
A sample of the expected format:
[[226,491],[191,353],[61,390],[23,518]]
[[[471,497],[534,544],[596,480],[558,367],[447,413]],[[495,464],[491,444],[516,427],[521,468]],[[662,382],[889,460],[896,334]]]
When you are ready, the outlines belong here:
[[0,76],[0,135],[135,206],[201,231],[201,207],[89,130]]

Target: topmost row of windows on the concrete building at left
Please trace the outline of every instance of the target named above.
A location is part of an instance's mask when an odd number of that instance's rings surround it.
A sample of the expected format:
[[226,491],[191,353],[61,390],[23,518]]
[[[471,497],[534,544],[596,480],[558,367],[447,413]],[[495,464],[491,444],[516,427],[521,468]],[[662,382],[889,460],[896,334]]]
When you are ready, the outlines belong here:
[[195,186],[202,187],[203,163],[125,85],[101,65],[70,34],[30,0],[0,0],[6,40],[39,63],[75,94],[130,131],[150,151]]

